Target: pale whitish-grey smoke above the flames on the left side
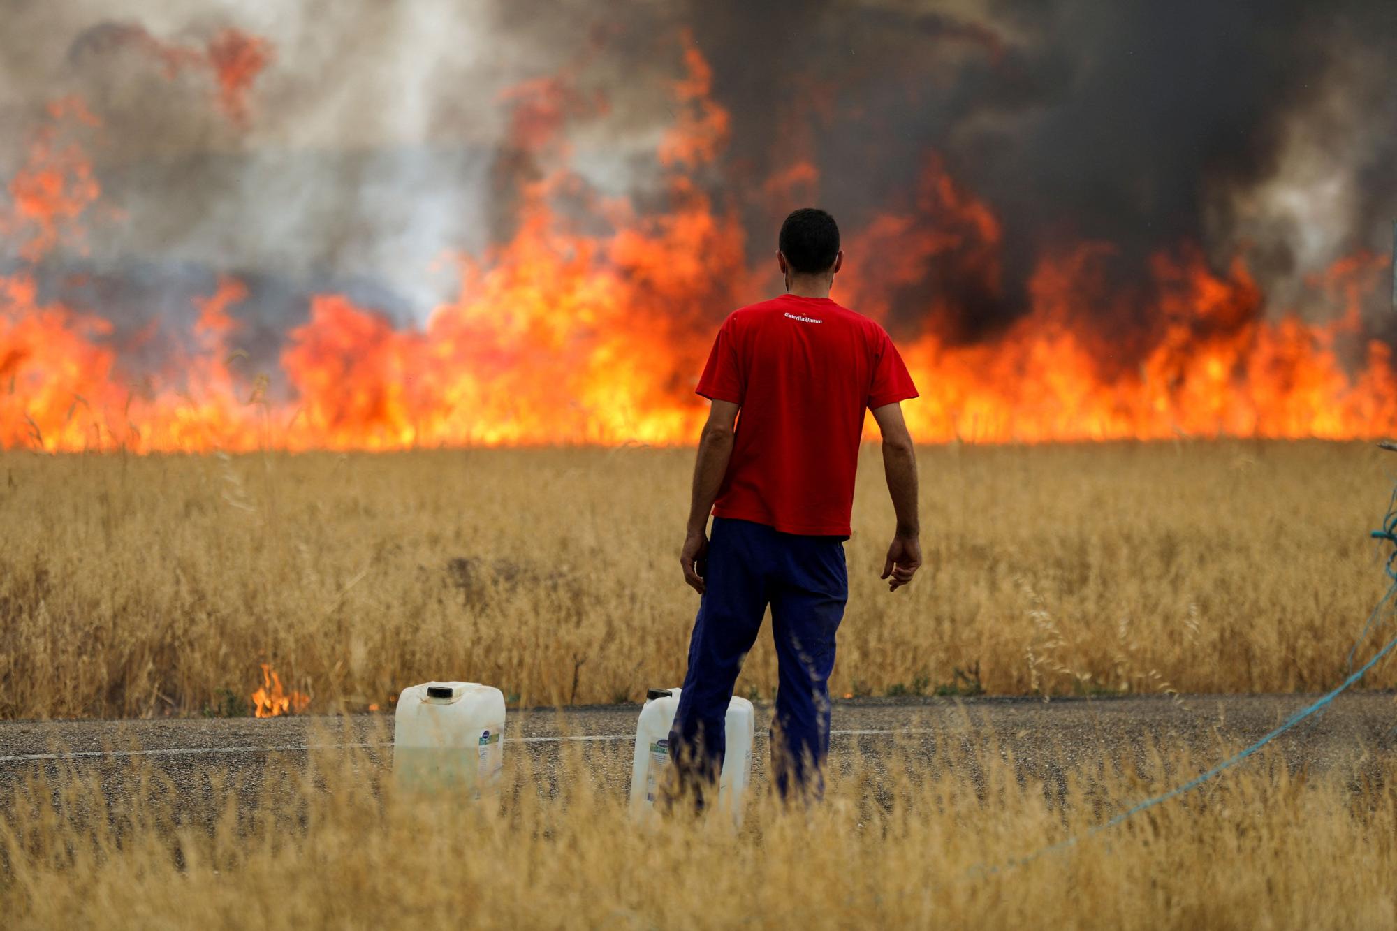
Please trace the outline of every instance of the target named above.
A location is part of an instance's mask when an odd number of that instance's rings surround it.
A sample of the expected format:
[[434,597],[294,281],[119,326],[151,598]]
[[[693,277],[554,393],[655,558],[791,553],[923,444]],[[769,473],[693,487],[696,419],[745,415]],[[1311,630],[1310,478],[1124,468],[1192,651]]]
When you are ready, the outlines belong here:
[[[496,0],[17,6],[0,36],[0,129],[14,141],[0,169],[22,159],[24,127],[46,101],[88,102],[102,119],[91,157],[103,203],[120,211],[88,236],[91,261],[373,281],[398,296],[387,309],[418,319],[454,294],[441,260],[488,245],[492,200],[506,193],[490,176],[507,133],[502,91],[566,64],[566,31],[585,38],[588,15],[557,7],[541,39],[502,22]],[[274,55],[250,88],[246,126],[218,106],[208,70],[170,77],[148,49],[105,41],[144,31],[198,49],[228,27],[267,39]],[[662,116],[664,85],[650,84],[640,96]],[[580,161],[619,185],[633,148],[598,157],[588,147]]]

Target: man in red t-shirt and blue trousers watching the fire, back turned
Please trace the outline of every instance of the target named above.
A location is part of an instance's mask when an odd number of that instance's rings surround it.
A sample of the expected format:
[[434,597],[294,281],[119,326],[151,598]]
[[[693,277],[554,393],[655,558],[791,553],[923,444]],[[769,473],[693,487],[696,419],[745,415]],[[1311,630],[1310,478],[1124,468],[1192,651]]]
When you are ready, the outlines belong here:
[[781,665],[771,772],[782,797],[823,790],[865,410],[883,433],[897,513],[883,565],[888,589],[908,584],[922,565],[916,461],[900,404],[916,387],[883,327],[830,299],[844,263],[834,218],[798,210],[778,246],[787,292],[732,312],[698,379],[712,407],[679,562],[701,600],[669,746],[680,787],[700,805],[722,767],[732,686],[767,605]]

